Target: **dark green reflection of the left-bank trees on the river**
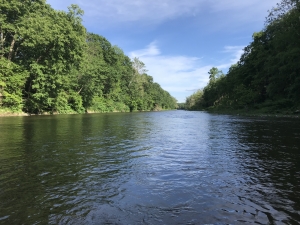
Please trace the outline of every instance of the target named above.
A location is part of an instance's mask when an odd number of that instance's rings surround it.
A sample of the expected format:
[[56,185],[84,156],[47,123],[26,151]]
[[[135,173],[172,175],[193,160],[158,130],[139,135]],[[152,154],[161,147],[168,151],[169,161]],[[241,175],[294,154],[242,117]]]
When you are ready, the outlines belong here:
[[[130,166],[126,142],[132,145],[139,135],[138,129],[119,126],[122,118],[101,114],[4,121],[0,219],[5,224],[45,219],[56,224],[70,214],[80,218],[96,202],[109,202],[118,194],[118,177],[126,176]],[[131,120],[129,116],[126,123]]]

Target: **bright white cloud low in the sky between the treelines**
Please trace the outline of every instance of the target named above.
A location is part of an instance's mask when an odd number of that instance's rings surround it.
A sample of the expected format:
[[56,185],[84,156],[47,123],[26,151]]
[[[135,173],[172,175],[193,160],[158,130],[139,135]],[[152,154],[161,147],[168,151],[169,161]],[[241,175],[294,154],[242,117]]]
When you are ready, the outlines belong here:
[[213,67],[228,69],[239,60],[243,46],[225,46],[223,54],[228,57],[228,62],[213,65],[205,62],[203,58],[184,55],[164,55],[156,42],[150,43],[143,49],[132,51],[129,57],[137,57],[145,63],[148,74],[154,78],[161,87],[179,102],[195,90],[206,86],[209,76],[208,71]]

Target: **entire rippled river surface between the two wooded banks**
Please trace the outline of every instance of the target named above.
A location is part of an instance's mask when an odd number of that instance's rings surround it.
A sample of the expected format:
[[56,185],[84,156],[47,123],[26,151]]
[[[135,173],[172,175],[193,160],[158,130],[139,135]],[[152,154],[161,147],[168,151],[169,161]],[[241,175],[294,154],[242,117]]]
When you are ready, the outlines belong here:
[[300,224],[300,120],[0,118],[0,224]]

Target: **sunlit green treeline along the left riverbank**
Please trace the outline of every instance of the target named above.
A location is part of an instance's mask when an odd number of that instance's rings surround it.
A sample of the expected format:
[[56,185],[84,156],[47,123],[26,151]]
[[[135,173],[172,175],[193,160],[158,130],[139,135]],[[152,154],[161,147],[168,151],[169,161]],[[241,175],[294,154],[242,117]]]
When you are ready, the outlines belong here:
[[0,110],[82,113],[176,108],[176,99],[104,37],[83,11],[45,0],[0,4]]

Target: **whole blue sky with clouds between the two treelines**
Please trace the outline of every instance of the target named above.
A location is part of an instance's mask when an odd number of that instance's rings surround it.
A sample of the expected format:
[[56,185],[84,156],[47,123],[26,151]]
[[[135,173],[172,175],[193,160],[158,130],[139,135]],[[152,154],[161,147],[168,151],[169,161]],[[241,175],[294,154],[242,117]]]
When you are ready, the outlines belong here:
[[104,36],[146,64],[154,81],[185,102],[208,71],[239,60],[279,0],[47,0],[54,9],[77,4],[89,32]]

